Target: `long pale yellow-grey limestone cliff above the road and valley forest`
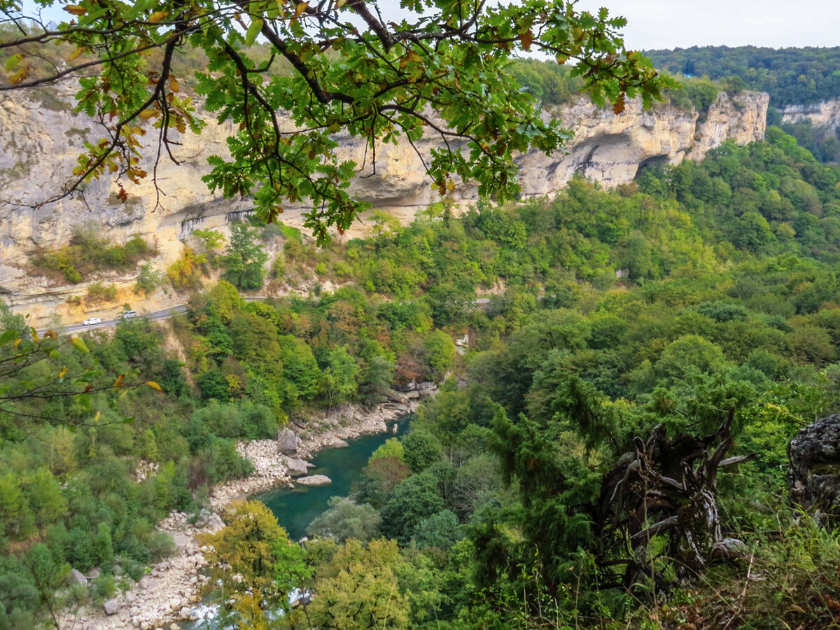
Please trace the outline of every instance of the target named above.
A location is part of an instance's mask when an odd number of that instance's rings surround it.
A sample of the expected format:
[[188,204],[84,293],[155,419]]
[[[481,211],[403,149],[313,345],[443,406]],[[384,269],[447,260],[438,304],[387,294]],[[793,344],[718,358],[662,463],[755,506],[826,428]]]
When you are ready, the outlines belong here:
[[[113,241],[121,242],[135,233],[156,239],[160,255],[155,266],[164,269],[178,255],[179,239],[188,237],[193,229],[224,228],[249,209],[248,200],[213,195],[201,181],[207,172],[207,157],[225,154],[225,138],[232,131],[229,125],[215,123],[200,136],[180,139],[176,151],[180,165],[161,158],[157,168],[160,196],[149,178],[139,186],[129,185],[129,200],[121,203],[116,197],[117,186],[102,180],[93,181],[83,195],[77,193],[33,209],[32,204],[50,197],[66,183],[82,143],[98,139],[94,121],[71,112],[72,92],[72,86],[64,86],[42,88],[25,96],[23,92],[0,96],[0,297],[20,312],[35,312],[41,323],[66,297],[83,293],[85,287],[56,286],[29,277],[27,256],[34,248],[57,248],[66,244],[74,228],[92,224]],[[766,94],[745,93],[734,101],[721,94],[700,122],[698,113],[668,106],[644,111],[638,101],[631,101],[626,111],[617,115],[581,99],[550,114],[575,132],[568,154],[546,156],[533,151],[518,158],[522,195],[556,192],[579,171],[605,186],[615,186],[633,181],[642,165],[701,159],[726,139],[738,144],[761,139],[767,104]],[[354,194],[374,207],[407,221],[439,198],[431,190],[422,160],[409,144],[378,147],[372,165],[370,154],[349,136],[339,136],[339,143],[341,157],[360,165]],[[418,150],[428,156],[436,146],[438,138],[430,134],[418,143]],[[153,166],[149,161],[144,168],[151,173]],[[465,205],[475,199],[475,187],[459,186],[454,197]],[[282,220],[299,226],[304,209],[287,207]],[[359,223],[357,233],[364,230],[365,223]],[[133,284],[128,276],[108,281],[123,287]],[[126,293],[120,303],[127,300],[138,302]],[[176,297],[171,301],[177,302]],[[165,306],[165,302],[155,306]]]

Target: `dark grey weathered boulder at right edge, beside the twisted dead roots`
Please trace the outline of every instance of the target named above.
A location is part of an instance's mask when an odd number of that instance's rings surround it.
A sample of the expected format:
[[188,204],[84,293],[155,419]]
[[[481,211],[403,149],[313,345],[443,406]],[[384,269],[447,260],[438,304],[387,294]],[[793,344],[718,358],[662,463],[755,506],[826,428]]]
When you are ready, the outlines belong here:
[[788,444],[790,500],[840,513],[840,414],[803,428]]

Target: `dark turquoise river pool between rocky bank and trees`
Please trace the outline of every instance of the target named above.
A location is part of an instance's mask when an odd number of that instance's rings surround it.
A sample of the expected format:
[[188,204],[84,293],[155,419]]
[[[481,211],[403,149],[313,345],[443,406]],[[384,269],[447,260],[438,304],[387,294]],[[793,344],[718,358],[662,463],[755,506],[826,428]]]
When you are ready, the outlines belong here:
[[[397,435],[408,428],[408,416],[400,418]],[[391,424],[388,425],[391,428]],[[296,486],[294,490],[280,488],[252,496],[250,498],[262,501],[277,517],[281,526],[286,528],[289,538],[299,540],[307,535],[307,526],[327,509],[327,503],[332,496],[348,496],[350,488],[365,465],[370,454],[385,444],[386,439],[393,438],[393,433],[376,433],[363,435],[349,440],[349,446],[344,449],[323,449],[318,452],[312,464],[316,467],[309,469],[310,475],[327,475],[333,483],[326,486]]]

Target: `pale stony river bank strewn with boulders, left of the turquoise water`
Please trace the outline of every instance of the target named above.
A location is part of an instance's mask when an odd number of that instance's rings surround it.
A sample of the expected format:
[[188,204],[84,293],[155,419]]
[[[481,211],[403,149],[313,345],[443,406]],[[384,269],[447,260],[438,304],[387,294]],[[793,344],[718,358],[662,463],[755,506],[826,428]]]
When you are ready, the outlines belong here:
[[[427,387],[423,397],[433,395],[435,389]],[[317,416],[299,418],[290,424],[300,438],[294,457],[309,459],[342,440],[390,431],[397,418],[417,410],[420,398],[395,391],[373,410],[344,404]],[[148,575],[131,584],[128,591],[118,591],[104,606],[66,610],[60,617],[61,630],[178,630],[178,622],[195,617],[206,581],[202,569],[207,566],[197,535],[223,528],[221,515],[232,501],[277,486],[293,486],[287,457],[278,449],[277,440],[240,442],[236,448],[254,465],[254,472],[245,479],[214,486],[207,497],[208,507],[197,519],[184,512],[172,512],[163,519],[158,529],[171,535],[175,553],[153,564]]]

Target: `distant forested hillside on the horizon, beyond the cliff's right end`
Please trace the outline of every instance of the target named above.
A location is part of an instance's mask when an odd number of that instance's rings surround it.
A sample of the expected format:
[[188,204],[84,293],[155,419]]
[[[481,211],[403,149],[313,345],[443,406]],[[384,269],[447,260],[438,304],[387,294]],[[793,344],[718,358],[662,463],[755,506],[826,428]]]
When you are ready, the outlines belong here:
[[834,48],[757,48],[692,46],[646,50],[654,66],[675,76],[730,76],[744,87],[770,95],[774,108],[806,105],[840,97],[840,46]]

